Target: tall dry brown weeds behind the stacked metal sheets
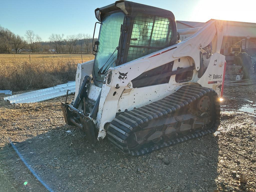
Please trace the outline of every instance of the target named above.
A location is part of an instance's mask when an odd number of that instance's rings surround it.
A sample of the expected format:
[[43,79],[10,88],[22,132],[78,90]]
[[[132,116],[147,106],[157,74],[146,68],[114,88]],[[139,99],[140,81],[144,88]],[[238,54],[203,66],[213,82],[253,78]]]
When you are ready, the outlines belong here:
[[0,90],[27,90],[48,88],[57,84],[74,81],[76,60],[38,59],[29,62],[13,60],[12,64],[0,61]]

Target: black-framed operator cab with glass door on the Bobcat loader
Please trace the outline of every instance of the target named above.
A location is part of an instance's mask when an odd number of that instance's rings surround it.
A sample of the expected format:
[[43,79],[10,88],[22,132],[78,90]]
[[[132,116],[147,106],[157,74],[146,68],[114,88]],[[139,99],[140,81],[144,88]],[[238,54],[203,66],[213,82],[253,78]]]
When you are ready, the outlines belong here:
[[[95,59],[92,76],[98,87],[102,87],[110,67],[177,43],[175,17],[165,9],[130,1],[116,1],[95,9],[95,16],[99,20],[100,32],[98,41],[93,44]],[[156,74],[163,70],[172,69],[170,65],[163,65],[149,73]]]

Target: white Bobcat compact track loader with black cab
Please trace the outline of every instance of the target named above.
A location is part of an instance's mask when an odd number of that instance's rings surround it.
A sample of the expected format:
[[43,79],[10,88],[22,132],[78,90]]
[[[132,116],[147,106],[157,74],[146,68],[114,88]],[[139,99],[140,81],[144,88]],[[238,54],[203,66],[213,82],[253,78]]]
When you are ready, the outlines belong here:
[[[177,30],[172,12],[130,1],[95,16],[95,59],[78,64],[74,100],[61,103],[67,124],[132,156],[217,130],[226,66],[218,20]],[[182,34],[193,35],[178,43]]]

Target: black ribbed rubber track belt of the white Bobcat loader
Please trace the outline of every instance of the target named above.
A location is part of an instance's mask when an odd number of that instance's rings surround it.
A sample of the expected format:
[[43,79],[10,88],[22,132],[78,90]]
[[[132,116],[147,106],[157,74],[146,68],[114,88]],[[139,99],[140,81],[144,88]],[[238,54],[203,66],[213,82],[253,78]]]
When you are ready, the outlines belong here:
[[[214,121],[212,122],[211,127],[207,127],[207,129],[200,132],[170,139],[167,142],[154,144],[140,150],[133,151],[127,147],[127,138],[137,126],[152,121],[153,119],[157,119],[161,116],[172,114],[175,111],[189,105],[190,103],[195,102],[206,94],[211,94],[215,102],[215,117],[213,118]],[[175,145],[180,142],[213,133],[218,129],[219,125],[220,103],[217,93],[211,88],[199,87],[195,85],[186,85],[163,99],[147,104],[141,108],[119,114],[111,122],[107,134],[108,140],[123,153],[131,156],[139,156],[163,147]]]

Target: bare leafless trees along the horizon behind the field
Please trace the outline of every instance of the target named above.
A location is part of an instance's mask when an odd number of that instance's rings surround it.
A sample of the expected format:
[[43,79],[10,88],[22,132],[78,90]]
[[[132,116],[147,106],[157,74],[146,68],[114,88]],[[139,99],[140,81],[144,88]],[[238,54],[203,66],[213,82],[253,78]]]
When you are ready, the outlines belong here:
[[27,30],[25,38],[14,34],[0,25],[0,53],[52,52],[92,54],[93,40],[89,34],[68,35],[51,34],[49,41],[42,41],[33,30]]

